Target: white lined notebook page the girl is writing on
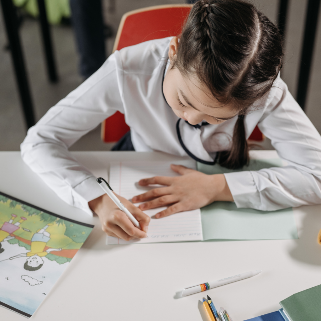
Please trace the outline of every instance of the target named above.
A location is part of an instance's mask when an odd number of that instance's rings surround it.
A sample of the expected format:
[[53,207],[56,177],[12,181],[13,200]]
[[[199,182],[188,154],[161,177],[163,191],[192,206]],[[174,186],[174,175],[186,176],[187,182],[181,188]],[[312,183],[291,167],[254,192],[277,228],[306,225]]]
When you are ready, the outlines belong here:
[[[178,176],[170,169],[169,161],[123,161],[111,162],[109,172],[109,184],[117,193],[130,200],[133,196],[142,194],[154,187],[142,187],[137,182],[142,178],[153,176]],[[195,169],[195,162],[183,160],[175,162]],[[135,204],[138,206],[139,204]],[[107,244],[127,243],[158,243],[158,242],[182,242],[202,240],[202,222],[200,209],[176,213],[161,219],[153,216],[163,208],[147,210],[144,213],[152,219],[149,224],[147,238],[124,241],[114,237],[107,237]]]

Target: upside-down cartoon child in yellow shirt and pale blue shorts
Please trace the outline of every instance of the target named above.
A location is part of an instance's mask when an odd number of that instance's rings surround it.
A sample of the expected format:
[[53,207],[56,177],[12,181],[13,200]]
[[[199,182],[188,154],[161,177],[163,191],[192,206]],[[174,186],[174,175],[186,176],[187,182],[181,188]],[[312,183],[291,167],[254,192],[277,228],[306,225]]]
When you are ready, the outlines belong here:
[[9,259],[13,260],[18,257],[27,256],[27,261],[23,266],[24,269],[27,271],[39,270],[44,264],[44,261],[41,258],[42,256],[46,256],[52,251],[61,251],[61,248],[48,248],[44,251],[47,242],[50,240],[50,233],[46,231],[49,225],[52,225],[52,223],[48,223],[41,230],[37,231],[37,233],[33,234],[31,238],[30,252],[11,256]]

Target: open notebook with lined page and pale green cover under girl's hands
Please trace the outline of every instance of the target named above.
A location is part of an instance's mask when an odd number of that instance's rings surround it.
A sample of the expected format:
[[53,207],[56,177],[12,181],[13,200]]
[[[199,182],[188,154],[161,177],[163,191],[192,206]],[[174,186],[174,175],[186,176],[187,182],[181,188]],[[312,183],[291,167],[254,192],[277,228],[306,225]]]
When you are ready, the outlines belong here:
[[[109,183],[114,191],[130,200],[153,187],[141,187],[137,182],[153,176],[178,176],[170,169],[170,161],[124,161],[111,162]],[[193,160],[176,161],[195,169]],[[280,159],[251,160],[249,167],[243,170],[259,170],[280,166]],[[219,165],[206,167],[197,165],[197,169],[206,174],[222,171]],[[138,204],[136,204],[138,206]],[[238,209],[232,202],[214,202],[194,211],[176,213],[161,219],[153,216],[162,209],[145,211],[152,220],[148,229],[148,238],[124,241],[107,237],[107,244],[182,242],[201,240],[251,240],[251,239],[297,239],[297,229],[291,208],[280,211],[264,212],[253,209]]]

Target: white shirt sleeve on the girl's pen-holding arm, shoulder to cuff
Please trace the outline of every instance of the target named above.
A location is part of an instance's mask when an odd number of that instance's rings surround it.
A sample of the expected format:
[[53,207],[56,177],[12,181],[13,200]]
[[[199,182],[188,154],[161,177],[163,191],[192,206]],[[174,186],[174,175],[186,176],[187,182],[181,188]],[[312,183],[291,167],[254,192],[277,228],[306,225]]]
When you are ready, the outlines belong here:
[[118,56],[118,52],[111,55],[95,74],[50,108],[21,144],[23,161],[66,203],[90,215],[88,202],[104,192],[68,148],[117,110],[124,112]]

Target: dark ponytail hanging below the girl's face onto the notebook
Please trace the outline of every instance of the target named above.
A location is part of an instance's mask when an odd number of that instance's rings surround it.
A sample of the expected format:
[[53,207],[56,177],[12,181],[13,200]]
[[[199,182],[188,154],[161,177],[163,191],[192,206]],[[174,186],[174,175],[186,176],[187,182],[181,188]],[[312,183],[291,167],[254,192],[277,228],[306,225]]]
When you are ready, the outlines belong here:
[[218,162],[229,169],[239,169],[248,165],[249,154],[243,115],[239,115],[234,126],[231,150],[219,152]]

